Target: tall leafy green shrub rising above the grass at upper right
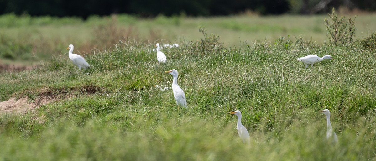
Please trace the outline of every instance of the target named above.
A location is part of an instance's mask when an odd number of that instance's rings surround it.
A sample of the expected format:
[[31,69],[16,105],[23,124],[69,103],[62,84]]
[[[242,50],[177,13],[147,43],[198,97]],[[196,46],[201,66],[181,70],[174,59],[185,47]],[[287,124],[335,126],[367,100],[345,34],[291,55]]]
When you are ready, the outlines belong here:
[[353,37],[355,36],[355,18],[346,19],[341,16],[338,18],[337,14],[334,14],[334,8],[332,14],[328,14],[331,21],[325,18],[325,26],[328,33],[326,34],[329,41],[333,44],[351,44]]

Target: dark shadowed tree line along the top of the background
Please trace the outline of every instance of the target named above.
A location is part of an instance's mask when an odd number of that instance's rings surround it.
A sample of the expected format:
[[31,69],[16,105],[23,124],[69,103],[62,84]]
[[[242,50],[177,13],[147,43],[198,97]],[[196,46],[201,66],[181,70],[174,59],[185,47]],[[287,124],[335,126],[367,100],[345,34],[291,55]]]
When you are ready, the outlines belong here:
[[246,10],[262,15],[314,14],[338,6],[375,11],[376,0],[0,0],[0,14],[83,18],[121,13],[141,17],[159,14],[209,16],[238,14]]

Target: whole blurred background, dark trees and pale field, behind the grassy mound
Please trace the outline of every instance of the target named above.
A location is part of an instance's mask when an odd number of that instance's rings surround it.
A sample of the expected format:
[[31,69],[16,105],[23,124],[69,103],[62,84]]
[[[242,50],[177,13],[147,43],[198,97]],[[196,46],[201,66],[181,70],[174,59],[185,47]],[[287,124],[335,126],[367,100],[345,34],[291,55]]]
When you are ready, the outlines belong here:
[[0,68],[23,70],[52,56],[111,49],[119,41],[183,44],[203,37],[225,46],[290,37],[326,41],[324,19],[355,19],[361,38],[376,30],[375,0],[0,0]]

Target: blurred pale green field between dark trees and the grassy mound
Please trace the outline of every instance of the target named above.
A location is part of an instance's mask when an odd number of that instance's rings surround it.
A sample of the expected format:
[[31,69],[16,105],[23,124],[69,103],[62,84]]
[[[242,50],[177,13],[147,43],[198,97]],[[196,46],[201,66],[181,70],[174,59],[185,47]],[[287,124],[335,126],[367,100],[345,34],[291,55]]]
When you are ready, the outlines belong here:
[[[355,15],[346,15],[353,18]],[[0,16],[0,59],[30,65],[56,55],[66,55],[69,44],[75,51],[90,54],[92,49],[109,49],[124,37],[142,43],[186,43],[202,37],[197,32],[204,26],[210,33],[221,36],[225,46],[253,46],[255,40],[273,42],[290,35],[323,44],[326,40],[324,18],[315,16],[237,15],[229,17],[137,18],[130,15],[80,18]],[[376,30],[376,14],[360,14],[356,18],[356,38],[363,38]],[[368,34],[367,34],[368,33]],[[6,63],[3,62],[3,63]]]

